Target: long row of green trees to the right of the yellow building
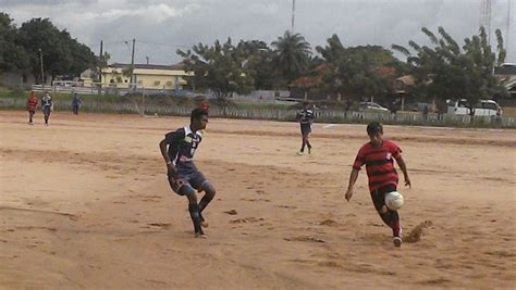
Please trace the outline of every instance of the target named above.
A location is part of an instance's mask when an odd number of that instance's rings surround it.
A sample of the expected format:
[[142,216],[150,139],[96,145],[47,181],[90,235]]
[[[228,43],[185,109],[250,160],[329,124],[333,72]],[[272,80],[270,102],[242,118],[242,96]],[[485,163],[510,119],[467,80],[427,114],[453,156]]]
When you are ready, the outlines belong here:
[[[210,89],[224,101],[233,92],[254,89],[290,88],[297,93],[310,92],[311,99],[359,101],[373,97],[392,102],[398,98],[395,80],[409,75],[414,84],[404,88],[417,100],[443,102],[467,99],[472,106],[479,99],[503,98],[505,87],[493,75],[506,55],[500,29],[496,48],[491,48],[483,27],[478,35],[459,46],[443,27],[434,34],[428,28],[430,46],[408,41],[408,49],[393,45],[346,47],[339,36],[327,39],[315,51],[300,34],[285,34],[270,46],[260,40],[233,43],[219,40],[198,43],[186,51],[177,50],[189,79],[196,88]],[[402,53],[406,61],[394,55]],[[299,97],[299,96],[297,96]]]

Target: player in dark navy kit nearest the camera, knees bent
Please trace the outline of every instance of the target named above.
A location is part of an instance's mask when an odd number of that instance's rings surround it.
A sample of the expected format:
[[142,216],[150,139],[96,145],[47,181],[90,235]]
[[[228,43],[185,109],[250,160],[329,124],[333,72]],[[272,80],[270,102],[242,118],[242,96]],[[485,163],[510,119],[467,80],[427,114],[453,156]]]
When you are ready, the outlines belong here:
[[[191,124],[187,127],[168,133],[159,143],[161,154],[167,163],[169,184],[172,190],[188,199],[188,212],[194,223],[195,237],[206,237],[202,227],[208,224],[202,217],[202,211],[216,194],[213,186],[205,178],[193,162],[195,150],[202,137],[200,131],[208,124],[208,112],[194,109],[191,114]],[[205,191],[205,196],[197,203],[195,192]]]

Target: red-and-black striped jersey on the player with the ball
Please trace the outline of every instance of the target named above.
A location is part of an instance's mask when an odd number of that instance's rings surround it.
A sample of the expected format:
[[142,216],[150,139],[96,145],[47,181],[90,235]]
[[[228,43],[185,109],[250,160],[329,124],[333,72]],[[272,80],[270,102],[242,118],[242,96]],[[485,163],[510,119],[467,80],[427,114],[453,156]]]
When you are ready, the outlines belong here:
[[401,156],[402,149],[390,140],[383,140],[382,146],[373,148],[371,142],[358,150],[353,168],[359,171],[366,164],[369,190],[374,191],[388,185],[397,187],[397,173],[394,168],[394,159]]

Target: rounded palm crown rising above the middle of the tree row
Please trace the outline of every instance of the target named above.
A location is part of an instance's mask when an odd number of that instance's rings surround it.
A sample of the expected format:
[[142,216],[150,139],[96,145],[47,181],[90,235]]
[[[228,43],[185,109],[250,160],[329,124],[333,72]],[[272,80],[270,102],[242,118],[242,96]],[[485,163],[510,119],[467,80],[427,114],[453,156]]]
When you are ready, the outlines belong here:
[[274,48],[274,66],[283,76],[286,84],[291,84],[305,73],[309,66],[310,43],[300,34],[286,30],[283,37],[272,42]]

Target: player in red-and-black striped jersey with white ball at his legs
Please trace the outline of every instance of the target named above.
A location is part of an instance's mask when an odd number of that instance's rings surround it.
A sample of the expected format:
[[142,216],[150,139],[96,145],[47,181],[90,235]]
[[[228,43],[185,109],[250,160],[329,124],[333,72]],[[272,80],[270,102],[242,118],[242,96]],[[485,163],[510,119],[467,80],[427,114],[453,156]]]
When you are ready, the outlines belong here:
[[367,177],[369,179],[369,191],[372,203],[383,222],[392,228],[393,243],[395,247],[402,245],[402,226],[400,215],[396,211],[389,210],[385,205],[385,194],[396,191],[398,178],[394,168],[394,160],[400,165],[405,177],[405,186],[410,187],[407,166],[402,157],[400,147],[390,140],[383,140],[383,127],[378,122],[372,122],[367,126],[367,135],[370,142],[364,144],[355,159],[353,171],[349,176],[349,186],[346,192],[346,200],[353,197],[353,187],[358,178],[360,167],[366,164]]

